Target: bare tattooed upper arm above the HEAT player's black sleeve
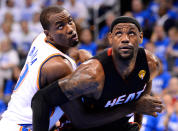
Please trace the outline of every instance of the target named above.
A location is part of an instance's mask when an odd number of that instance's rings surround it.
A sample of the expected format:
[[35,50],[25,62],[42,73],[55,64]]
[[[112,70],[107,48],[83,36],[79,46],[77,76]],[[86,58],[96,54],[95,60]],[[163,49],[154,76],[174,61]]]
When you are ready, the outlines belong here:
[[78,95],[87,95],[98,99],[101,95],[104,85],[104,70],[100,62],[96,59],[90,59],[82,63],[77,70],[72,73],[68,85],[64,92],[69,99],[72,99],[68,92]]

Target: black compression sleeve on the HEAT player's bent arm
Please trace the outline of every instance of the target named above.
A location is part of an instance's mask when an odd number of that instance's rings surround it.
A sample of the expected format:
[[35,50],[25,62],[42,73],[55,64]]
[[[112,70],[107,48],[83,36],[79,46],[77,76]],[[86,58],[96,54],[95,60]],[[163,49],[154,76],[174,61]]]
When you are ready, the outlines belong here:
[[33,131],[48,131],[49,111],[68,101],[61,94],[58,82],[39,90],[33,97],[31,107],[33,111]]

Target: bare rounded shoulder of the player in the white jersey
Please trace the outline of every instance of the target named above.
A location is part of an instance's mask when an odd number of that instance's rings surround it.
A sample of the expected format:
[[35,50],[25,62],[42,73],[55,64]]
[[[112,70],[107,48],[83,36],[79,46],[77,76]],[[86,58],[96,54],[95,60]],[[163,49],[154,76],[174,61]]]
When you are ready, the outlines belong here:
[[[41,82],[47,84],[63,78],[72,72],[72,67],[68,60],[61,56],[49,59],[41,69]],[[43,82],[44,81],[44,82]]]

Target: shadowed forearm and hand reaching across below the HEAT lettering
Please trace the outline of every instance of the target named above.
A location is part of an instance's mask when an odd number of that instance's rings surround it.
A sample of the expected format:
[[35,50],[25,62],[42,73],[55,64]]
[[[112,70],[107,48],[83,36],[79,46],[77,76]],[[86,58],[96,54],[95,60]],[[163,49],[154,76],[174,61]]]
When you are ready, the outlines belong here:
[[[146,95],[137,102],[119,106],[112,111],[87,112],[82,107],[80,100],[73,100],[61,106],[72,124],[77,128],[99,127],[110,122],[125,117],[130,113],[139,113],[155,115],[155,112],[161,112],[162,104],[159,99]],[[71,110],[72,109],[72,110]]]

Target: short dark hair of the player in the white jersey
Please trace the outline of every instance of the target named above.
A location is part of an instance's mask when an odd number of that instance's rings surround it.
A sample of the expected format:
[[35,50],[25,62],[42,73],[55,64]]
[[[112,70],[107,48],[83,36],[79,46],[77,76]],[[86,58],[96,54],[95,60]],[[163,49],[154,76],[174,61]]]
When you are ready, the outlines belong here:
[[49,29],[50,22],[49,22],[48,18],[51,14],[60,13],[63,10],[65,10],[65,9],[61,6],[49,6],[45,9],[43,9],[43,11],[40,14],[40,22],[41,22],[43,29],[44,30]]

